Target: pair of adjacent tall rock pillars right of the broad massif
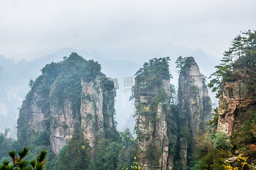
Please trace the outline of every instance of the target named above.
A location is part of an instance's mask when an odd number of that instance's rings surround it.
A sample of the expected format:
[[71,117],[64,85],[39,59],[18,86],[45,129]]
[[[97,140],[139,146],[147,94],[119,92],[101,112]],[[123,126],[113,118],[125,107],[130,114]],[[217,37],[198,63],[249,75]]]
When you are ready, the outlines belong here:
[[[194,58],[187,57],[180,71],[179,107],[172,105],[173,109],[169,105],[168,67],[165,58],[150,60],[136,73],[133,86],[138,149],[148,170],[173,170],[174,158],[186,167],[187,153],[195,153],[196,136],[203,133],[206,122],[210,120],[211,100],[205,78]],[[143,81],[140,79],[146,80],[147,77],[155,77],[154,87],[141,87]],[[179,155],[176,155],[177,149]]]

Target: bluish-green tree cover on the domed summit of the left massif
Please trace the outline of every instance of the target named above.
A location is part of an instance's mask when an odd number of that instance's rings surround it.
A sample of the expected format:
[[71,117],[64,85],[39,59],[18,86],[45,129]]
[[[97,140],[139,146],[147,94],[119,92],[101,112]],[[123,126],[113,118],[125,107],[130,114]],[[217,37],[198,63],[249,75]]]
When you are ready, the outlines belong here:
[[[81,80],[90,82],[97,76],[105,77],[101,73],[101,66],[93,60],[85,60],[77,53],[69,55],[67,60],[51,63],[42,69],[46,82],[51,87],[50,103],[60,106],[64,101],[72,104],[72,109],[78,109],[81,104]],[[76,110],[73,110],[76,111]]]

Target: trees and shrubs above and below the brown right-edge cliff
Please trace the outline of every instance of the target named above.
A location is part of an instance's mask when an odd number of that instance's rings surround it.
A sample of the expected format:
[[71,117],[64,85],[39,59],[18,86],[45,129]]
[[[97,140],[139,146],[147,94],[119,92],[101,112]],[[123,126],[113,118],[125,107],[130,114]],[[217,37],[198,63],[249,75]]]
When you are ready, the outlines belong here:
[[[210,78],[208,86],[216,97],[220,97],[221,90],[232,82],[246,83],[252,98],[255,98],[256,89],[256,31],[247,31],[236,36],[231,41],[231,47],[224,52],[220,65]],[[247,91],[247,92],[248,92]],[[246,92],[246,93],[247,93]],[[254,97],[253,97],[254,96]],[[252,100],[252,98],[250,98]],[[236,114],[250,115],[249,120],[242,123],[241,128],[231,137],[226,133],[217,132],[218,108],[215,109],[212,120],[209,121],[209,130],[200,138],[199,153],[196,155],[196,169],[199,170],[252,170],[256,161],[256,112],[254,106],[238,109]],[[231,165],[225,160],[235,157]]]

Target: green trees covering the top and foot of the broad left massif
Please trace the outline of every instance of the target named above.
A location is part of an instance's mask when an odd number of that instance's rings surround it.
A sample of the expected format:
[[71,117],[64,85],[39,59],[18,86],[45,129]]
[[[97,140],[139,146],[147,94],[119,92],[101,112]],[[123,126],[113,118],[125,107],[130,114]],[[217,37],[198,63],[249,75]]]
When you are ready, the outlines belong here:
[[[46,170],[63,169],[63,170],[113,170],[121,169],[123,165],[130,169],[133,162],[133,148],[137,148],[136,140],[126,129],[123,133],[116,130],[116,122],[113,120],[113,126],[108,122],[112,120],[114,110],[114,85],[112,80],[108,80],[101,72],[101,66],[93,60],[85,60],[77,53],[72,53],[69,57],[64,57],[63,61],[58,63],[47,64],[35,81],[30,80],[30,92],[26,95],[22,108],[26,109],[25,116],[19,118],[18,125],[22,125],[19,129],[18,140],[5,138],[4,134],[0,134],[0,162],[11,161],[8,152],[10,150],[21,150],[24,146],[29,147],[30,151],[24,158],[24,161],[35,160],[41,150],[47,151],[45,164]],[[95,149],[90,148],[87,140],[81,130],[81,116],[79,118],[79,110],[81,100],[88,100],[87,94],[82,93],[81,80],[85,82],[96,81],[104,82],[103,87],[103,111],[105,139],[99,140]],[[98,81],[98,80],[97,80]],[[55,128],[55,119],[47,110],[45,111],[48,118],[43,121],[45,130],[35,131],[27,129],[31,110],[28,108],[33,93],[40,93],[44,98],[43,101],[37,101],[37,105],[52,105],[61,107],[65,102],[71,104],[71,109],[78,113],[75,119],[80,120],[75,125],[75,134],[72,139],[68,140],[68,145],[64,146],[60,152],[55,155],[50,146],[51,128]],[[41,103],[40,103],[41,102]],[[48,115],[47,115],[48,114]],[[65,130],[68,125],[62,122],[62,128]],[[92,153],[93,152],[93,153]],[[93,156],[94,155],[94,156]],[[1,164],[0,163],[0,164]]]

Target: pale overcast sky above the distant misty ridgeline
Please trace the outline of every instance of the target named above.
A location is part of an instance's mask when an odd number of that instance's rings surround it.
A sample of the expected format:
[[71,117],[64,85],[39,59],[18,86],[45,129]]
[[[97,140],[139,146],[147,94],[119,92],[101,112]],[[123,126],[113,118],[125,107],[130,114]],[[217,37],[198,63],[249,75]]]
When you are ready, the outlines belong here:
[[[111,50],[171,43],[222,56],[240,31],[256,29],[256,0],[1,0],[0,55],[72,47]],[[170,44],[170,45],[171,45]],[[168,48],[168,47],[167,47]]]

